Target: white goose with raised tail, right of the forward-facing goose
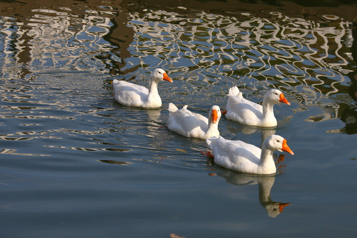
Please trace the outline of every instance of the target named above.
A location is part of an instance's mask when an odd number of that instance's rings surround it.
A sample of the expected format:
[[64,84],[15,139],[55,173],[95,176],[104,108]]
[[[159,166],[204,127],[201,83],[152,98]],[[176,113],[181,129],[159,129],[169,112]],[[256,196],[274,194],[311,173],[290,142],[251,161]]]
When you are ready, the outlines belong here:
[[263,99],[263,106],[246,100],[237,86],[231,87],[228,92],[228,102],[226,118],[237,121],[243,125],[270,127],[276,126],[277,121],[274,116],[273,106],[283,102],[290,105],[283,93],[277,89],[272,89],[266,93]]

